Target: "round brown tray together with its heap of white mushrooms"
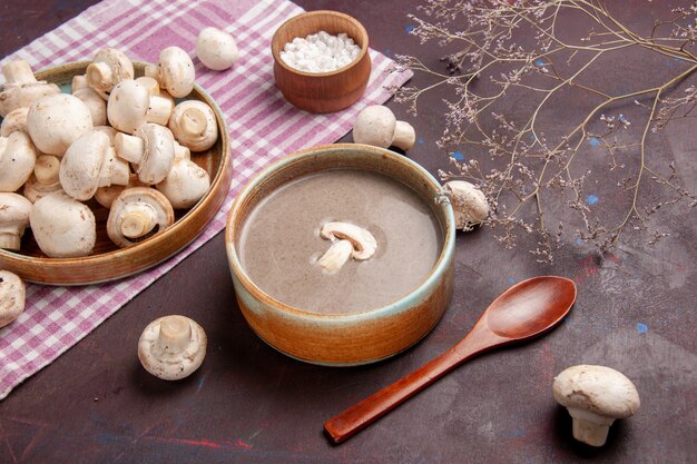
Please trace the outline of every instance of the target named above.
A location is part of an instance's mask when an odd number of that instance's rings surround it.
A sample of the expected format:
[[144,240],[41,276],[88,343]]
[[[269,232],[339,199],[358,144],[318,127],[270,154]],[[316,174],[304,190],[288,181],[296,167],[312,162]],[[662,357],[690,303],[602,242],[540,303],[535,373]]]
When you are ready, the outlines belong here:
[[21,60],[3,68],[1,91],[13,93],[0,98],[0,268],[43,284],[107,282],[204,230],[229,188],[228,134],[193,67],[166,68],[114,49],[36,76]]

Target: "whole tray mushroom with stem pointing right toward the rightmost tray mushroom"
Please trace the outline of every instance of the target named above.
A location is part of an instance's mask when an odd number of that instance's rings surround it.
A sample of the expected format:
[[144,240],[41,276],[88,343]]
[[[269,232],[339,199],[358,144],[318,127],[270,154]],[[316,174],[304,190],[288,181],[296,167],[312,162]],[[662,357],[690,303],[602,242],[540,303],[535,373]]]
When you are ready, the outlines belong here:
[[150,96],[144,86],[127,79],[109,95],[107,119],[117,130],[134,134],[145,122],[167,125],[171,108],[171,101]]

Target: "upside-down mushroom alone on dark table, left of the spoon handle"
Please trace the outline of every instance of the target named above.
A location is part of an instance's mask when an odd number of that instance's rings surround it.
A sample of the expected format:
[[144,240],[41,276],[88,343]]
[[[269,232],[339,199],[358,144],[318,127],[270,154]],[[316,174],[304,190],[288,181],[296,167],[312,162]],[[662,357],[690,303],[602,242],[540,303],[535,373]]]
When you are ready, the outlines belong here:
[[153,320],[138,340],[143,367],[165,381],[178,381],[193,374],[206,357],[207,337],[203,327],[185,316],[165,316]]

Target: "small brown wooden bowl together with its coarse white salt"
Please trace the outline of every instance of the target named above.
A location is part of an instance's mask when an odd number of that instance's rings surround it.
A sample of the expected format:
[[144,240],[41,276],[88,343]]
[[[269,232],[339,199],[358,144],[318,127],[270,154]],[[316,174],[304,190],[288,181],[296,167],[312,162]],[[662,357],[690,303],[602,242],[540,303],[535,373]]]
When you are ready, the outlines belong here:
[[312,11],[284,22],[271,42],[276,87],[300,109],[333,112],[365,92],[371,75],[367,32],[337,11]]

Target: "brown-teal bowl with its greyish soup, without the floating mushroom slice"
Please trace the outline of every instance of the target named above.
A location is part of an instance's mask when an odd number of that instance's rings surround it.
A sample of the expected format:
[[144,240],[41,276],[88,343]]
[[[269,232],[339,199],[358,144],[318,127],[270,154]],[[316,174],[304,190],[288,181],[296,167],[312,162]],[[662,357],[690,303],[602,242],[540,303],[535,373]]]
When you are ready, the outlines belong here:
[[[351,176],[360,187],[346,195],[342,189],[350,188]],[[335,178],[346,180],[338,185]],[[371,198],[372,184],[380,192],[376,198]],[[377,362],[419,342],[441,319],[453,290],[454,216],[450,204],[436,201],[440,192],[440,184],[414,161],[357,144],[310,148],[263,170],[237,196],[225,230],[237,303],[252,329],[291,357],[333,366]],[[307,204],[293,206],[293,195]],[[284,198],[291,203],[284,205]],[[409,201],[413,208],[402,208]],[[414,210],[419,213],[412,215]],[[400,211],[410,216],[405,220],[422,220],[423,230],[433,230],[420,233],[416,223],[400,223]],[[375,237],[376,253],[327,273],[317,257],[332,245],[320,229],[335,220],[365,227]],[[277,239],[268,239],[269,230]],[[400,249],[402,236],[414,240],[406,245],[409,253]],[[420,249],[430,251],[420,258]],[[300,257],[293,260],[296,250]],[[382,274],[371,274],[376,270]],[[390,282],[383,276],[390,273],[401,277]],[[274,278],[267,278],[273,275],[285,284],[276,288]],[[365,276],[374,288],[361,287]],[[324,279],[332,289],[326,295]],[[400,285],[394,295],[381,292]]]

